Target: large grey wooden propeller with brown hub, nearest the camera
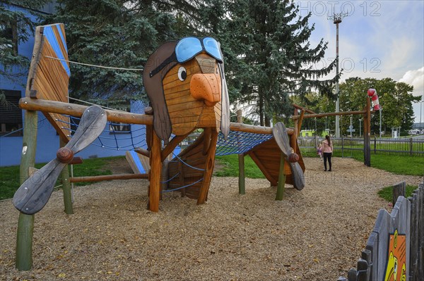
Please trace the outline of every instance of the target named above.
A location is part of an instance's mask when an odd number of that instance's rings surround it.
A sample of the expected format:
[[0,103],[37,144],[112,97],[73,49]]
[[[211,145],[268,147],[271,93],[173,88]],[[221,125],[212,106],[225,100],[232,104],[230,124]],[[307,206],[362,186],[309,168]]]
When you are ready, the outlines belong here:
[[72,139],[57,151],[57,158],[23,182],[13,196],[13,205],[28,215],[40,211],[49,201],[61,170],[72,161],[74,154],[97,139],[105,129],[106,123],[106,113],[100,106],[87,108]]

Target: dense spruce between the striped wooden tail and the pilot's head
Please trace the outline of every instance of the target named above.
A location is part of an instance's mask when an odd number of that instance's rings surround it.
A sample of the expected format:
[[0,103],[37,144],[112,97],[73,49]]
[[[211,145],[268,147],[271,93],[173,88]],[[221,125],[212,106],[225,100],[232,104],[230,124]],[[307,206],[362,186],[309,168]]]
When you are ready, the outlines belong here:
[[[142,69],[148,56],[169,40],[201,28],[204,1],[59,0],[49,22],[65,24],[71,61]],[[141,71],[71,64],[71,96],[78,99],[143,99]]]

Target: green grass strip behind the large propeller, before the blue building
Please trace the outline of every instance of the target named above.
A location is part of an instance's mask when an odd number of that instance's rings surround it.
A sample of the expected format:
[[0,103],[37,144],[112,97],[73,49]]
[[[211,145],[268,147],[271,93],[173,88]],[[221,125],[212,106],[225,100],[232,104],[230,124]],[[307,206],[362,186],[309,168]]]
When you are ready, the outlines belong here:
[[[122,157],[84,159],[82,164],[73,166],[73,176],[112,175],[111,170],[107,169],[107,163]],[[36,164],[35,168],[40,169],[45,164]],[[92,183],[77,182],[75,185],[90,185]],[[61,182],[58,180],[55,186],[60,184]],[[19,186],[19,166],[0,167],[0,200],[12,198]]]

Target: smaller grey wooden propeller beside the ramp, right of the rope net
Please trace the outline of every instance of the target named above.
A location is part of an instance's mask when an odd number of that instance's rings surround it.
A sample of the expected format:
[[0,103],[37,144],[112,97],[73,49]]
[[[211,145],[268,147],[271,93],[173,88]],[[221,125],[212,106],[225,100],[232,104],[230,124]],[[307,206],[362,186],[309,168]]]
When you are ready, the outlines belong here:
[[298,154],[292,152],[285,125],[281,122],[278,122],[272,128],[272,135],[274,139],[276,139],[276,143],[280,147],[281,152],[285,157],[285,161],[287,161],[290,166],[290,170],[293,175],[293,186],[298,190],[303,189],[303,187],[305,187],[305,175],[303,175],[303,170],[300,168],[298,163]]

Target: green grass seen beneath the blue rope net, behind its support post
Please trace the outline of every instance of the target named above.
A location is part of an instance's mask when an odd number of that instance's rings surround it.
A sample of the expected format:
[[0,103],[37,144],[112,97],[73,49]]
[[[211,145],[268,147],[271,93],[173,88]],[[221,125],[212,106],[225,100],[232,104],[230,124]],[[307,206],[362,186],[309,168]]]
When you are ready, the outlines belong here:
[[[223,165],[223,168],[216,171],[214,175],[217,177],[238,177],[238,155],[216,156],[216,159],[220,165]],[[253,179],[265,178],[249,156],[245,156],[245,176]]]

